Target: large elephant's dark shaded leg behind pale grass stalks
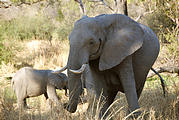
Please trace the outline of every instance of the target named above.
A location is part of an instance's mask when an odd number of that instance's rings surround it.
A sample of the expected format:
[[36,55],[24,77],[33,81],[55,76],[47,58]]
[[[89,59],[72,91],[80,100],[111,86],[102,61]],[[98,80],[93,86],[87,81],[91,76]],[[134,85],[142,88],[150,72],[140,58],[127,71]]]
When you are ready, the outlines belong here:
[[[96,95],[96,99],[99,100],[99,105],[103,104],[100,109],[99,117],[105,119],[109,115],[108,107],[112,104],[114,101],[116,94],[118,91],[115,90],[109,90],[111,86],[108,86],[106,83],[107,78],[104,76],[104,74],[101,74],[99,71],[95,71],[94,68],[91,69],[91,74],[93,76],[94,81],[93,86],[91,89],[87,89],[90,95],[93,95],[93,93]],[[110,79],[110,78],[109,78]],[[97,111],[98,112],[98,111]],[[104,115],[105,114],[105,115]]]

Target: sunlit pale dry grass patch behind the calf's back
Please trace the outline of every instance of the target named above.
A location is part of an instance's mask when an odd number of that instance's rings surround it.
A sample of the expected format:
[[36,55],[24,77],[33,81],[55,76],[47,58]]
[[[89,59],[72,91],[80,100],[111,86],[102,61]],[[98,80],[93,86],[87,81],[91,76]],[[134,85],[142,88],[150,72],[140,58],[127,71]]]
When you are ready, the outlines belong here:
[[16,55],[19,64],[26,63],[38,69],[54,69],[56,66],[62,67],[66,64],[68,45],[65,41],[31,40],[21,44],[24,50]]

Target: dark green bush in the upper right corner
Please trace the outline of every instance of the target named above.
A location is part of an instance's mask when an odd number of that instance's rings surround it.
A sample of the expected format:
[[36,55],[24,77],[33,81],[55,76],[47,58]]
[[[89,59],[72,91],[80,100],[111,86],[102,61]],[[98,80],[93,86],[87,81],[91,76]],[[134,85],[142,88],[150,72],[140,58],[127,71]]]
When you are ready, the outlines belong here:
[[[179,8],[178,3],[175,0],[159,0],[156,5],[153,4],[154,12],[147,16],[147,24],[150,28],[154,30],[158,36],[162,36],[162,39],[168,40],[169,42],[176,41],[175,38],[178,36],[177,29],[179,28],[178,18],[179,18]],[[169,40],[168,33],[173,33],[174,39]],[[164,37],[164,38],[163,38]],[[165,42],[165,40],[161,40]]]

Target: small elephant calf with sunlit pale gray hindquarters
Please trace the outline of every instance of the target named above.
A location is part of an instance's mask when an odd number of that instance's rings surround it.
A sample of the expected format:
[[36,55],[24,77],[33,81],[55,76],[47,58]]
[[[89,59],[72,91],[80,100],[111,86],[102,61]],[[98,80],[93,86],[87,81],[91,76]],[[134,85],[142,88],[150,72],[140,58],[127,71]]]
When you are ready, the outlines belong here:
[[27,107],[26,98],[44,94],[46,99],[58,103],[56,89],[67,91],[67,76],[53,73],[52,70],[21,68],[12,78],[12,86],[17,96],[19,108]]

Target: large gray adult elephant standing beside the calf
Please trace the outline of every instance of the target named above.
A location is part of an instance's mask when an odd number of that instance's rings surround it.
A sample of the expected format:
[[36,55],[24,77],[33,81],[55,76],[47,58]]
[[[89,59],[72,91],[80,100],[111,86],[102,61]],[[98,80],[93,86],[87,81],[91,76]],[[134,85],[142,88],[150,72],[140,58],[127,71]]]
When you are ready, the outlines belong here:
[[76,111],[82,92],[81,74],[69,69],[85,63],[89,63],[97,98],[101,92],[106,97],[101,116],[118,91],[125,93],[130,111],[139,108],[138,99],[160,49],[150,28],[121,14],[86,16],[75,23],[69,41],[68,111]]

